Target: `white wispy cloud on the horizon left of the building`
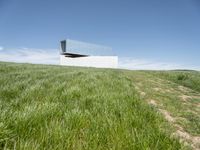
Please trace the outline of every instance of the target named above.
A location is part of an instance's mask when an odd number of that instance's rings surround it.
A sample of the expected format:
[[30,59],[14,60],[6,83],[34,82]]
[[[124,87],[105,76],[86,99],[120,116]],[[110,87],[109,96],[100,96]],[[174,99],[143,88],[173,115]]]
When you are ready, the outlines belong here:
[[59,64],[59,50],[56,49],[4,49],[0,61],[35,64]]

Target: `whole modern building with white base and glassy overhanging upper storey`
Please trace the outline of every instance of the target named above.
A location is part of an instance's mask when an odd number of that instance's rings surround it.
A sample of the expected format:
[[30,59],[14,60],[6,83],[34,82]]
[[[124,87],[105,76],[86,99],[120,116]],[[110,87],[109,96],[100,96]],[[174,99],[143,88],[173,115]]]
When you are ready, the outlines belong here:
[[74,40],[61,41],[60,65],[117,68],[112,48]]

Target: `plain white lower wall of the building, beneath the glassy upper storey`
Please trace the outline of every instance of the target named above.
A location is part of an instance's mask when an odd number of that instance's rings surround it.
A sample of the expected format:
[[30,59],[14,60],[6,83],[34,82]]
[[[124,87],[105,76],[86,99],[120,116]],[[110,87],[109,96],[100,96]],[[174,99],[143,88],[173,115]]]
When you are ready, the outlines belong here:
[[97,67],[97,68],[117,68],[117,56],[88,56],[70,58],[60,55],[60,65],[66,66],[84,66],[84,67]]

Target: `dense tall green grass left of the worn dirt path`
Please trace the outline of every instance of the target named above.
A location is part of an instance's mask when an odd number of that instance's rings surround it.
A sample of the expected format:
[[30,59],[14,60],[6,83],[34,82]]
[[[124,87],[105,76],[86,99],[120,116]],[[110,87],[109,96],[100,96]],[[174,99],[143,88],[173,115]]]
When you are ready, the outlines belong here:
[[0,149],[183,149],[134,72],[0,63]]

